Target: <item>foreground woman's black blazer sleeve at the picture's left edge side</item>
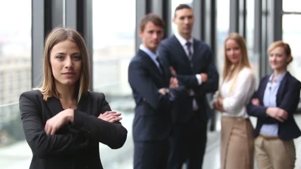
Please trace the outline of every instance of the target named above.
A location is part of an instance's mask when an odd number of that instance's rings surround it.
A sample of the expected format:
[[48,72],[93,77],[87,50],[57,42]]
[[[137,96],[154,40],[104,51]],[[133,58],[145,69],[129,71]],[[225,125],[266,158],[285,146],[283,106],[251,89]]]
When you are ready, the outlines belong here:
[[88,145],[87,140],[77,134],[47,135],[41,121],[39,103],[29,94],[21,94],[19,107],[25,138],[33,154],[39,158],[49,158],[58,154],[69,154]]

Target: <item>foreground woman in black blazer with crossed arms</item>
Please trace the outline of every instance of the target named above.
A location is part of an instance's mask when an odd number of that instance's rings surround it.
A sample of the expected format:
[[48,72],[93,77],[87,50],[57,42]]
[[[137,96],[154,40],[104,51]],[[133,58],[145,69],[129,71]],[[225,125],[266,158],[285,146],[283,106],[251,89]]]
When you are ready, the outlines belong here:
[[50,32],[42,87],[20,96],[21,120],[33,152],[30,169],[102,169],[99,143],[123,146],[127,130],[103,93],[88,91],[89,56],[81,35]]

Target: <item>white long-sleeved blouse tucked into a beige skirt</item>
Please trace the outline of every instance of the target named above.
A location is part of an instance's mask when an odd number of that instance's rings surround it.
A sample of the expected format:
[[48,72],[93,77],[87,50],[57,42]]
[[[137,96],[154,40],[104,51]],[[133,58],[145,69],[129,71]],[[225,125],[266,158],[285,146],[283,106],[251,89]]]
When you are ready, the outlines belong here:
[[246,105],[255,91],[255,77],[250,68],[243,68],[239,73],[236,83],[230,91],[235,78],[223,82],[220,86],[220,95],[223,98],[222,116],[249,118]]

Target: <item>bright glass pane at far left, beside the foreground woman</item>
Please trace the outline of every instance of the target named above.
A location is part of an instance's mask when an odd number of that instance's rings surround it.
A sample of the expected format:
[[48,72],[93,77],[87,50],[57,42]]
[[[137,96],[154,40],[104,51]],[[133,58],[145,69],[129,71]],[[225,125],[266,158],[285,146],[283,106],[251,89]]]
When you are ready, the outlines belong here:
[[0,166],[12,169],[31,154],[18,105],[31,89],[31,0],[0,1],[0,23]]

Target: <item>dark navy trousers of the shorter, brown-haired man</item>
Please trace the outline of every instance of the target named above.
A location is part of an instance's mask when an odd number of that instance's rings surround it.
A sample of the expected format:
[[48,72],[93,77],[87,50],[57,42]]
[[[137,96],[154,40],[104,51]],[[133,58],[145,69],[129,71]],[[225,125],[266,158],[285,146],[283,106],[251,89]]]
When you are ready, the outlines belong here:
[[134,142],[134,169],[166,169],[169,141]]

